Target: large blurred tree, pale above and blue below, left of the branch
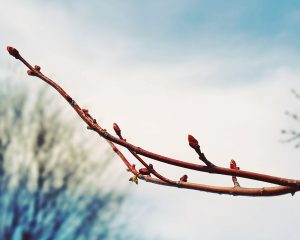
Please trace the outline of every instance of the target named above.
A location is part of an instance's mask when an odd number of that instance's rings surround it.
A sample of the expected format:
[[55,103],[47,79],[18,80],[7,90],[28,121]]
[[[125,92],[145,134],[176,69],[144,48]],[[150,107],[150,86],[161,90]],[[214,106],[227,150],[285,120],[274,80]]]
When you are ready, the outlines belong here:
[[89,159],[43,91],[1,85],[0,239],[124,239],[124,192],[100,183],[109,155]]

